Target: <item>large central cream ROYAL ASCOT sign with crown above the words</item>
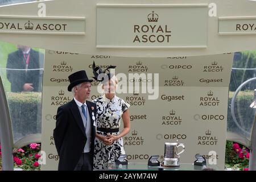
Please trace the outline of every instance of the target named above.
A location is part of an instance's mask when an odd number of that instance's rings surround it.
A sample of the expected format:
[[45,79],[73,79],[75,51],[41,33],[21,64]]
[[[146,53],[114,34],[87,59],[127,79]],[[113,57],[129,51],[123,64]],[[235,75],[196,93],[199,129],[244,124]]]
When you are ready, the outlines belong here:
[[208,5],[97,5],[98,48],[206,48]]

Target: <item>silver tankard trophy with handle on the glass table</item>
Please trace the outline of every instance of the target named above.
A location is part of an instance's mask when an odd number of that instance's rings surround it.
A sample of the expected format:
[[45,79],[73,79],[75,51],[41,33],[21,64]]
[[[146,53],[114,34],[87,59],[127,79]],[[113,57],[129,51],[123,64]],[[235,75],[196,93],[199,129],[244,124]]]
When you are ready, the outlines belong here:
[[[179,153],[178,147],[183,147]],[[163,167],[179,167],[180,166],[180,154],[185,151],[183,143],[164,143],[164,158],[161,166]]]

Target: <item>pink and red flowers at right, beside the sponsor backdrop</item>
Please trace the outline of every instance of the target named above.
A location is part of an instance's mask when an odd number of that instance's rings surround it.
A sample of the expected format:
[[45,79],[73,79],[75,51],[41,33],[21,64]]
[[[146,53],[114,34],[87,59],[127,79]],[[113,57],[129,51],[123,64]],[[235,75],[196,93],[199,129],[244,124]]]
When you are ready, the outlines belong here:
[[225,168],[248,171],[250,151],[245,146],[230,141],[226,142]]

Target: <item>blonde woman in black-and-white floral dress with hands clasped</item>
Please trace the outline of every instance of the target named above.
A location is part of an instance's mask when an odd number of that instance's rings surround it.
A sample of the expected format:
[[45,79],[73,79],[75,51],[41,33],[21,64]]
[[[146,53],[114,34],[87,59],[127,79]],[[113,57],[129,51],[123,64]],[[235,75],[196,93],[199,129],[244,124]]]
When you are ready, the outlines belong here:
[[[106,163],[115,162],[125,154],[122,137],[130,131],[130,105],[115,95],[118,84],[115,75],[109,73],[107,77],[108,81],[101,82],[104,95],[93,100],[97,104],[94,169],[104,169]],[[119,129],[121,121],[122,130]]]

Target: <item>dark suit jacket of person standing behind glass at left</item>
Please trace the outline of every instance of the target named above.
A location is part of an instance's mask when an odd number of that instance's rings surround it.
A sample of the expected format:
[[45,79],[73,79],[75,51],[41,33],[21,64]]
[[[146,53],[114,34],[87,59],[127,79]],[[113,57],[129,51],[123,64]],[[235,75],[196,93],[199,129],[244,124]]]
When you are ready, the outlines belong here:
[[[43,54],[30,49],[30,62],[28,69],[40,68],[40,61],[43,61]],[[42,67],[42,66],[41,66]],[[8,55],[6,68],[10,69],[26,69],[26,60],[24,60],[21,50],[12,52]],[[11,92],[22,92],[25,83],[31,83],[34,92],[39,92],[40,70],[16,71],[7,70],[7,78],[11,82]]]

